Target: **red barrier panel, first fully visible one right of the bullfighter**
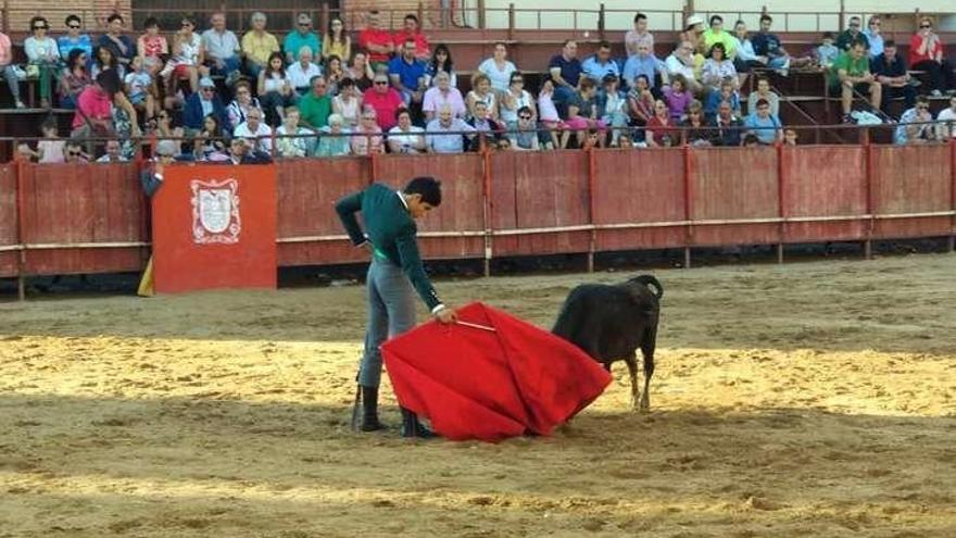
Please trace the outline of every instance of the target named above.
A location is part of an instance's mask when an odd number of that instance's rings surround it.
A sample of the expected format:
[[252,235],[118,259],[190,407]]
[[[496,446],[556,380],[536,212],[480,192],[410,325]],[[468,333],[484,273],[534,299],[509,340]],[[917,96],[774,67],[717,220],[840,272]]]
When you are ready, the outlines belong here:
[[495,255],[588,252],[588,207],[587,152],[491,155]]

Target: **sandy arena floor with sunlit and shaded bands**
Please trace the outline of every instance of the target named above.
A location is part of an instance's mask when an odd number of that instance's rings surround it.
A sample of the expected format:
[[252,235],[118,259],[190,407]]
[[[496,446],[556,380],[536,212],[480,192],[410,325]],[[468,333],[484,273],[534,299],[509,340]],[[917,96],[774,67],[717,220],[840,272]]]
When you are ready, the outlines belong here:
[[956,536],[956,257],[655,274],[652,413],[500,445],[349,430],[358,286],[2,304],[0,537]]

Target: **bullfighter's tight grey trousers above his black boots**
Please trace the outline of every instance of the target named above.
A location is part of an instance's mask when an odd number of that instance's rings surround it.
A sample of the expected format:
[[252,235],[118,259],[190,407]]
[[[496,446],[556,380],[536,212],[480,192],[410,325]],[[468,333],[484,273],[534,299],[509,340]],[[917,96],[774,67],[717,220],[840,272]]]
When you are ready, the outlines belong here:
[[366,278],[368,326],[365,352],[358,366],[358,385],[378,387],[381,383],[381,351],[386,339],[415,326],[415,290],[401,267],[378,254],[372,257]]

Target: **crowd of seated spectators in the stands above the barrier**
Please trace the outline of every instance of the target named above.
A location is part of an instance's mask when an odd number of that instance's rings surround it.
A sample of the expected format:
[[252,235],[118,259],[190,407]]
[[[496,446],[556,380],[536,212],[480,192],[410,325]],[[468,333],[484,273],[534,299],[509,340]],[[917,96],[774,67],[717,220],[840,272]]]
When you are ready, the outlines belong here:
[[[613,58],[608,42],[580,59],[577,42],[567,40],[537,95],[526,89],[521,67],[541,66],[516,65],[504,42],[469,71],[470,90],[462,95],[450,49],[432,47],[413,14],[391,32],[370,12],[354,43],[340,18],[317,32],[304,13],[281,40],[263,13],[250,17],[241,38],[223,13],[202,22],[204,30],[200,24],[184,16],[171,33],[149,17],[130,39],[124,18],[113,14],[106,33],[92,38],[70,15],[54,39],[48,20],[36,16],[23,43],[25,67],[13,63],[12,43],[0,34],[0,71],[15,107],[25,107],[18,82],[32,77],[41,107],[75,110],[66,140],[55,122],[45,122],[45,140],[21,147],[22,154],[40,162],[123,161],[144,133],[179,140],[183,159],[212,162],[235,162],[239,146],[238,160],[248,162],[271,154],[454,153],[482,145],[513,151],[773,145],[795,137],[780,121],[780,96],[765,73],[803,68],[827,73],[847,122],[854,97],[867,96],[875,111],[904,99],[895,138],[913,141],[943,133],[922,127],[933,118],[909,70],[927,73],[930,96],[954,88],[929,18],[913,36],[907,65],[882,37],[878,16],[866,29],[859,17],[850,18],[845,32],[823,35],[801,55],[783,47],[768,14],[752,35],[743,21],[730,30],[719,15],[692,15],[672,52],[657,58],[647,17],[638,13],[625,36],[626,59]],[[757,77],[756,90],[741,95],[750,76]],[[951,105],[940,118],[954,111]],[[117,141],[100,145],[102,157],[95,159],[89,138]]]

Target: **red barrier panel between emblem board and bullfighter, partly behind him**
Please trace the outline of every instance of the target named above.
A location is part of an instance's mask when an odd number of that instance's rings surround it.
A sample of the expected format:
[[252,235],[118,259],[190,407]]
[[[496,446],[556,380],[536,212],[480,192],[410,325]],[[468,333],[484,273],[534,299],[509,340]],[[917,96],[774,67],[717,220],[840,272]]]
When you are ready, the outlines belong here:
[[367,159],[284,160],[277,170],[279,266],[368,260],[348,241],[334,208],[339,198],[368,185]]

